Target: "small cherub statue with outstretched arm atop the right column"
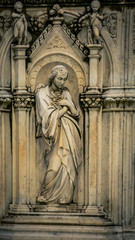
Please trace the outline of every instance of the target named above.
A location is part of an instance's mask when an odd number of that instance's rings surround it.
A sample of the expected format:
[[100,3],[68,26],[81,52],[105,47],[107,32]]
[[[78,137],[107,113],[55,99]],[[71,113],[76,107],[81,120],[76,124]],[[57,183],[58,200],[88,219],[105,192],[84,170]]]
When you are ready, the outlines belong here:
[[102,28],[101,20],[103,20],[103,15],[99,13],[100,2],[98,0],[92,1],[91,9],[92,12],[82,16],[79,19],[79,23],[88,19],[88,44],[101,44],[100,31]]

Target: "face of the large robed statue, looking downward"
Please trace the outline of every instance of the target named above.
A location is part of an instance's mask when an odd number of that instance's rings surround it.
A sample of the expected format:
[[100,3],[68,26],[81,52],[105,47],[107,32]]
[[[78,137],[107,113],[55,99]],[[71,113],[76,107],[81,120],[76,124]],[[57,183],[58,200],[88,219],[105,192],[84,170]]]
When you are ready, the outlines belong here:
[[56,77],[53,79],[52,86],[56,89],[62,89],[67,80],[67,73],[63,74],[58,72]]

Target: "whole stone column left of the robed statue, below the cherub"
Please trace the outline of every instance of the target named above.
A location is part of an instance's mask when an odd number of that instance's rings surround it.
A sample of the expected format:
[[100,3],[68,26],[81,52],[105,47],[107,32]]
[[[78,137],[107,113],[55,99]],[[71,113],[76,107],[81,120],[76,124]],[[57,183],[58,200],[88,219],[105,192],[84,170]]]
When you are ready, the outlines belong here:
[[29,46],[12,46],[12,149],[13,199],[11,211],[29,211],[29,112],[34,101],[26,90],[26,49]]

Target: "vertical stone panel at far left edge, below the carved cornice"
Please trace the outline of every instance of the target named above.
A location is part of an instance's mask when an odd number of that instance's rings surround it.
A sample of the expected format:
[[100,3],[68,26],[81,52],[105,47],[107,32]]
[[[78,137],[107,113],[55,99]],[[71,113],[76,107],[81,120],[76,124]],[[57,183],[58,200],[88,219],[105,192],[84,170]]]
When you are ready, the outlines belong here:
[[5,214],[11,202],[11,129],[10,113],[0,111],[0,216]]

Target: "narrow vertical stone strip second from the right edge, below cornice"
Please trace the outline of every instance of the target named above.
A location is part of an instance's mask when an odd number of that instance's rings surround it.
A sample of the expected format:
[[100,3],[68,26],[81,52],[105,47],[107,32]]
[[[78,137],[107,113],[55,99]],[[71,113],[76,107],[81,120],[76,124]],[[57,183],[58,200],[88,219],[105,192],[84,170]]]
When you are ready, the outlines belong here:
[[112,219],[115,224],[121,224],[122,220],[122,114],[113,112]]

